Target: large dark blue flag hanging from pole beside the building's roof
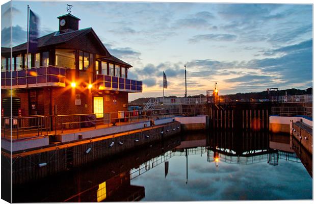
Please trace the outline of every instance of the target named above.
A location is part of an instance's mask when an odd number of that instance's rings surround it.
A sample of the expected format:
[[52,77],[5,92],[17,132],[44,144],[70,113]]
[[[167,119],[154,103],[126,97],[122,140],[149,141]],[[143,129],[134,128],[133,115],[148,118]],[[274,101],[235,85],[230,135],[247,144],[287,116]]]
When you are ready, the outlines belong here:
[[38,24],[39,18],[30,9],[29,53],[36,53],[38,44]]

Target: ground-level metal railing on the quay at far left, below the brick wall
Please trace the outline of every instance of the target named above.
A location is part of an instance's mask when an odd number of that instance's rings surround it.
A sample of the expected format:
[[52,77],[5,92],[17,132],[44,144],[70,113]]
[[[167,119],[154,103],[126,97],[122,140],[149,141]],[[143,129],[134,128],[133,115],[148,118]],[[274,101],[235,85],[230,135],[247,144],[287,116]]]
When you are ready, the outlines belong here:
[[50,115],[2,117],[1,136],[5,139],[25,139],[48,135]]

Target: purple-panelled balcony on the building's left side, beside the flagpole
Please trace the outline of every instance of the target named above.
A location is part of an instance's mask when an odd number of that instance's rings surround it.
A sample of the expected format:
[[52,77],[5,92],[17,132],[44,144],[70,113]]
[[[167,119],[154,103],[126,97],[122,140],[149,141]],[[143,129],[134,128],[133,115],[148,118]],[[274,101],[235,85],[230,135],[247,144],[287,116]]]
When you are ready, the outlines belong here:
[[[12,74],[12,76],[11,76]],[[31,69],[1,72],[1,88],[31,88],[47,86],[66,86],[66,68],[43,66]]]

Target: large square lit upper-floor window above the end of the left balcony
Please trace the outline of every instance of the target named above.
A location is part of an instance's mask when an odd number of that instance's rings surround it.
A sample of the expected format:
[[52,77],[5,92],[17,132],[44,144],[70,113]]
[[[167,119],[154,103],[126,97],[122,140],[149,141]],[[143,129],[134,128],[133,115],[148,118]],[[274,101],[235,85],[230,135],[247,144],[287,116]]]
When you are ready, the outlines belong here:
[[56,49],[55,66],[75,69],[74,54],[74,49]]

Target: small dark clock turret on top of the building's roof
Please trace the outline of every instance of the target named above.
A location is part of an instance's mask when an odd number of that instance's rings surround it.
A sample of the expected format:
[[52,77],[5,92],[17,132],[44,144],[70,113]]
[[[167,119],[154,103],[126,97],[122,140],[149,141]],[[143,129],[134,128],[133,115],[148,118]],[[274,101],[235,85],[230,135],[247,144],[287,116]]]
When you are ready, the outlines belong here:
[[80,19],[71,15],[70,13],[57,17],[59,19],[59,31],[67,33],[70,31],[77,31],[79,29]]

